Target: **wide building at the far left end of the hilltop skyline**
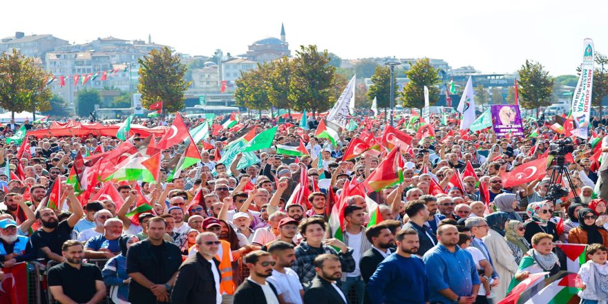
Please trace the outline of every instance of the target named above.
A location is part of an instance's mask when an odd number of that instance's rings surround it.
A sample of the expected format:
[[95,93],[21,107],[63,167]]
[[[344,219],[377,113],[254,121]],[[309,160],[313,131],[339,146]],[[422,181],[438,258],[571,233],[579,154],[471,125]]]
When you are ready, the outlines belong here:
[[23,32],[15,32],[14,37],[6,37],[0,40],[0,53],[11,53],[13,49],[17,49],[27,57],[37,57],[44,60],[46,53],[68,44],[68,41],[53,37],[53,35],[26,36]]

